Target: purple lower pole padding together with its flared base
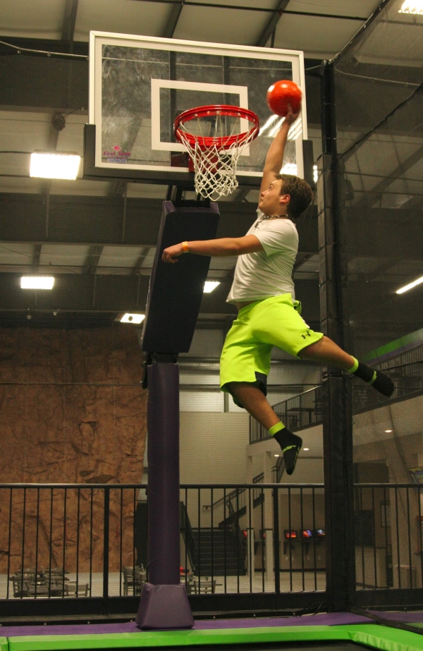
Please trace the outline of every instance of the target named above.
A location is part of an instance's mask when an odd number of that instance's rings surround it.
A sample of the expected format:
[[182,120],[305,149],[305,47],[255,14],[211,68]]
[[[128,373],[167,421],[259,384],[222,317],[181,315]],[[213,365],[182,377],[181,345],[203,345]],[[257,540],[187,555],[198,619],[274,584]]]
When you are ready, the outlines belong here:
[[179,368],[148,367],[147,576],[135,621],[143,629],[192,628],[194,618],[180,583]]

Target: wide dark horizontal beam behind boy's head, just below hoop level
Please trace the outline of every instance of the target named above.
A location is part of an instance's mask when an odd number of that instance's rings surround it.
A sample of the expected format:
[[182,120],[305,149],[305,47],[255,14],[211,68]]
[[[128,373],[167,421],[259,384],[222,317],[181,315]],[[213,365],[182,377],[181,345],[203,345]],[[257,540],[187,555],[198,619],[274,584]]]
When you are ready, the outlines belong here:
[[[71,183],[71,181],[69,182]],[[41,194],[0,193],[0,241],[121,245],[123,202],[118,197],[50,195],[49,236],[46,238],[45,197]],[[163,201],[129,198],[125,213],[125,244],[155,246]],[[243,236],[257,219],[257,205],[219,203],[217,236]],[[297,222],[301,253],[317,253],[317,208]]]

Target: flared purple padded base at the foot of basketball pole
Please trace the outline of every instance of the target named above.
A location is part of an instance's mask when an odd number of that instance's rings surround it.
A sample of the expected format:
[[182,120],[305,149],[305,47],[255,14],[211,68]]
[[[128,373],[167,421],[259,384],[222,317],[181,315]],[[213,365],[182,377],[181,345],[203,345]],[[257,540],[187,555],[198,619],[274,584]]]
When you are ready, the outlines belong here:
[[138,628],[192,628],[194,618],[183,583],[142,586],[140,607],[135,622]]

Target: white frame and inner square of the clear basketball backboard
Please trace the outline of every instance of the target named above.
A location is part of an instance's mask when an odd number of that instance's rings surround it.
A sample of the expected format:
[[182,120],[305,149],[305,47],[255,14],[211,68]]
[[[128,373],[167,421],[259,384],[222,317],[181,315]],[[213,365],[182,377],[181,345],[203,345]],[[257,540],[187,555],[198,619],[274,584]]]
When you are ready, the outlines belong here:
[[[183,39],[168,39],[159,37],[147,37],[140,35],[125,35],[113,32],[90,32],[90,91],[89,91],[89,122],[85,134],[85,159],[84,159],[84,176],[85,178],[119,178],[141,183],[173,183],[176,185],[192,185],[194,174],[187,167],[182,166],[161,166],[130,164],[123,165],[121,162],[104,162],[102,160],[102,52],[104,45],[118,45],[121,47],[137,47],[143,49],[155,49],[164,51],[175,51],[193,54],[213,54],[218,56],[243,57],[245,59],[267,59],[269,61],[288,62],[292,66],[293,81],[298,83],[302,89],[303,102],[302,113],[300,115],[301,129],[300,136],[295,138],[295,159],[297,164],[297,175],[304,176],[304,162],[302,155],[302,141],[307,140],[307,114],[305,106],[305,71],[304,55],[302,51],[274,49],[262,47],[245,47],[232,44],[216,44],[207,42],[187,41]],[[157,94],[160,88],[183,88],[189,90],[195,86],[198,90],[200,86],[217,87],[219,92],[228,92],[238,94],[240,97],[240,106],[248,109],[247,87],[235,85],[216,85],[216,84],[197,84],[190,82],[180,82],[178,80],[152,80],[152,107],[157,106]],[[202,89],[200,89],[202,90]],[[214,91],[214,89],[209,89]],[[154,104],[156,102],[156,104]],[[265,104],[266,98],[263,97]],[[152,111],[153,114],[153,111]],[[93,128],[94,126],[94,128]],[[167,143],[160,141],[157,124],[154,125],[152,120],[152,142],[155,143],[157,150],[168,150],[169,152],[178,152],[182,149],[179,143]],[[245,152],[248,155],[249,151]],[[261,183],[262,171],[238,171],[238,183],[240,185],[249,185],[257,187]]]

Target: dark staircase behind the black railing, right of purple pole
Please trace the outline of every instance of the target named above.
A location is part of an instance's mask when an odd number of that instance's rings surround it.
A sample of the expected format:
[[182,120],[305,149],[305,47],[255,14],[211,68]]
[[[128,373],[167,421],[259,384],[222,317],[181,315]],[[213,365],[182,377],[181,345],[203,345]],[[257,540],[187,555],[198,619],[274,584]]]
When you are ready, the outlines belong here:
[[231,529],[192,529],[197,576],[245,576],[245,549]]

